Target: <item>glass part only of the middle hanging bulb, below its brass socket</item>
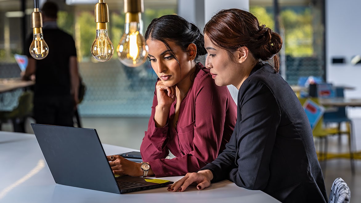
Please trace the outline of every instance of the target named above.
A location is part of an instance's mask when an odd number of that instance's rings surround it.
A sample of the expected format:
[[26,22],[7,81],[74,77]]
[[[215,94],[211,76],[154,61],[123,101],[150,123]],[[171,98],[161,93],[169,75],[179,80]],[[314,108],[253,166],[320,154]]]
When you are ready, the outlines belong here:
[[97,61],[108,61],[113,57],[113,43],[108,37],[108,30],[96,30],[96,37],[91,46],[91,54]]

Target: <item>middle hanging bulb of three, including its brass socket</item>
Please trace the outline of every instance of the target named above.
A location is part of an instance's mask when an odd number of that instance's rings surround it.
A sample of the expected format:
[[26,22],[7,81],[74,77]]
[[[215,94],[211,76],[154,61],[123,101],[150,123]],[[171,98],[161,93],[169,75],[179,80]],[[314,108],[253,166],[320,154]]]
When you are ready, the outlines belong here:
[[108,5],[99,0],[94,8],[94,21],[96,22],[96,37],[91,45],[91,54],[100,62],[108,61],[113,57],[114,47],[108,36],[106,23],[109,22]]

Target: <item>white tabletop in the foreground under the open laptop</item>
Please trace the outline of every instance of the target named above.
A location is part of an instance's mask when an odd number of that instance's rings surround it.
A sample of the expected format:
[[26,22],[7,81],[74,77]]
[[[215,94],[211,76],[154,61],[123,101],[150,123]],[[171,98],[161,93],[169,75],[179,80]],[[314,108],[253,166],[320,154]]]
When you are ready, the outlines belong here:
[[[103,144],[105,153],[118,154],[133,149]],[[177,181],[180,177],[162,179]],[[59,185],[49,171],[34,134],[0,131],[0,203],[219,203],[279,202],[260,190],[247,190],[230,181],[212,184],[198,191],[168,192],[166,187],[128,194],[113,194]]]

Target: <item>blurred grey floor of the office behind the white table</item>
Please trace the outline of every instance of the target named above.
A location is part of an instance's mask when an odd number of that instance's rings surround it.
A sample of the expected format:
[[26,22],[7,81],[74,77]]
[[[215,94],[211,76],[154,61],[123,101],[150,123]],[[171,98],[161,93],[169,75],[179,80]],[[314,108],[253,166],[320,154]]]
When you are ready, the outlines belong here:
[[[30,123],[27,120],[26,131],[32,133]],[[356,134],[356,149],[361,150],[361,119],[353,119]],[[95,128],[101,142],[105,144],[118,145],[139,149],[144,131],[147,130],[148,118],[82,118],[84,128]],[[3,124],[4,131],[12,131],[10,124]],[[136,136],[134,136],[136,135]],[[318,146],[318,140],[315,140]],[[316,147],[317,148],[317,147]],[[329,138],[329,151],[347,151],[347,138],[344,136],[339,144],[338,137]],[[337,177],[342,177],[351,189],[352,202],[361,199],[361,162],[355,161],[355,175],[351,174],[351,164],[349,159],[332,159],[321,162],[327,194],[331,190],[332,182]],[[325,167],[326,166],[326,167]]]

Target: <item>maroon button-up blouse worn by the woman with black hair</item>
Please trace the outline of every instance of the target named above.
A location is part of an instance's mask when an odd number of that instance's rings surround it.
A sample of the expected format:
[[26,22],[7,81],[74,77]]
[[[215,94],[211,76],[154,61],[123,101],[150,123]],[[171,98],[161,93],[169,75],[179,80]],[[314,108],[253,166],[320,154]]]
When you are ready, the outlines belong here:
[[[230,140],[237,106],[227,87],[218,87],[208,69],[198,63],[196,77],[181,102],[177,130],[170,122],[156,128],[154,122],[157,95],[153,98],[148,130],[140,146],[144,162],[149,162],[155,177],[183,176],[196,172],[217,158]],[[173,102],[168,120],[175,113]],[[169,151],[176,156],[165,159]]]

